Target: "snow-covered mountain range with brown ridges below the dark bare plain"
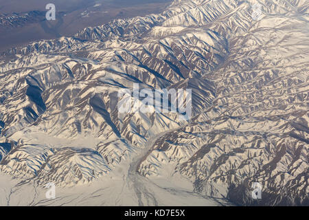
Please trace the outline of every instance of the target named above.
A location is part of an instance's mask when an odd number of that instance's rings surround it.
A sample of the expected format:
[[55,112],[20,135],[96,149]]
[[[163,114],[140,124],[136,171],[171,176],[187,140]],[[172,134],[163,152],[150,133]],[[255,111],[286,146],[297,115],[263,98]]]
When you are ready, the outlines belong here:
[[[308,205],[308,7],[177,0],[3,53],[0,204]],[[133,83],[192,89],[192,120],[119,115]]]

